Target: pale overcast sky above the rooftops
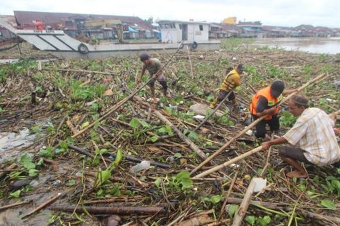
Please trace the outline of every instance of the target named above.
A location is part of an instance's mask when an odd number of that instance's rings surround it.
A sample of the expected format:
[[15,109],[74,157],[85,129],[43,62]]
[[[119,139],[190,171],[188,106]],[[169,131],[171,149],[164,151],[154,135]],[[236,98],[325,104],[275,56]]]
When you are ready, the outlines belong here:
[[264,25],[340,27],[340,0],[0,0],[0,15],[13,10],[74,12],[221,22],[261,21]]

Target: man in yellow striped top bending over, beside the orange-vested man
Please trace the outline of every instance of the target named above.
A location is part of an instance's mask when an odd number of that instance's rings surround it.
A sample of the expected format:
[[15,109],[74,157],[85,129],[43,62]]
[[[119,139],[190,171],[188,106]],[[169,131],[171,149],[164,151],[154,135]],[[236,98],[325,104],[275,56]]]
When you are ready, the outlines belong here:
[[219,87],[219,97],[214,99],[212,103],[210,104],[210,108],[214,109],[216,107],[216,104],[223,101],[224,98],[230,93],[228,96],[228,100],[232,101],[234,105],[237,103],[236,96],[234,92],[232,92],[232,89],[235,87],[238,87],[241,85],[241,74],[244,71],[244,64],[237,65],[237,68],[230,71],[226,78],[224,78],[221,87]]

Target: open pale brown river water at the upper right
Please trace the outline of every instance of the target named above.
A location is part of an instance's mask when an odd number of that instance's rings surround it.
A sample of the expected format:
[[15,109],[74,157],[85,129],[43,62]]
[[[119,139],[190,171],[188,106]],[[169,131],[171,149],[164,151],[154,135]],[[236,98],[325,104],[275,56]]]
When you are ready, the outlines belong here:
[[280,46],[287,50],[298,50],[309,53],[340,53],[340,37],[328,38],[259,38],[252,46]]

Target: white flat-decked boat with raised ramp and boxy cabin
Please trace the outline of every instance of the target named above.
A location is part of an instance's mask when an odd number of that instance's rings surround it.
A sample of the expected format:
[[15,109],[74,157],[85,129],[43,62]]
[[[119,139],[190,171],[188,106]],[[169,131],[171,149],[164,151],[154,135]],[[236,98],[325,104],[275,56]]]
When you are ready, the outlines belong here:
[[[167,26],[170,24],[170,27]],[[208,40],[209,25],[204,22],[183,21],[160,21],[162,36],[164,40],[160,43],[134,43],[134,44],[88,44],[80,42],[59,30],[19,30],[0,18],[0,25],[7,28],[26,42],[33,44],[37,49],[55,55],[57,58],[107,58],[110,56],[139,55],[142,52],[171,52],[178,48],[191,51],[216,50],[220,48],[218,40]],[[162,28],[163,26],[163,28]],[[190,27],[198,27],[198,31],[190,33]],[[205,28],[203,33],[202,30]],[[183,31],[187,29],[186,33]],[[201,38],[200,38],[201,37]],[[182,40],[185,40],[182,42]],[[182,45],[181,45],[182,44]]]

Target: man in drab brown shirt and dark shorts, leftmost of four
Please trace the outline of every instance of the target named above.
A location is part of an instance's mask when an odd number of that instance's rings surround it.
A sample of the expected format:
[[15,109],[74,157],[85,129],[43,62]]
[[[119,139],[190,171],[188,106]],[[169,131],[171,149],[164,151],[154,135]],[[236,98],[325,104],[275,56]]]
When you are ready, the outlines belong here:
[[153,96],[153,103],[158,102],[155,96],[155,80],[158,80],[158,82],[160,82],[160,85],[162,85],[164,96],[171,97],[169,94],[167,94],[167,78],[165,78],[163,72],[161,71],[162,64],[160,63],[160,60],[158,60],[157,58],[151,58],[151,55],[148,55],[148,53],[142,53],[139,58],[143,62],[143,69],[139,80],[142,79],[142,76],[144,75],[146,70],[148,70],[150,77],[153,78],[153,80],[148,83],[151,94]]

